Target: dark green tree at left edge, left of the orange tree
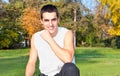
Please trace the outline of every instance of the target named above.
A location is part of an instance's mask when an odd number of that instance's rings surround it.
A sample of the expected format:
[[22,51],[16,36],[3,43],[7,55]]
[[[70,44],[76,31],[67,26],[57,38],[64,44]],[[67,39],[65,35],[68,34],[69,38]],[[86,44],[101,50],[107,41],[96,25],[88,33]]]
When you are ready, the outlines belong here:
[[16,4],[6,4],[0,16],[0,49],[17,48],[22,40],[22,27],[18,22],[22,7]]

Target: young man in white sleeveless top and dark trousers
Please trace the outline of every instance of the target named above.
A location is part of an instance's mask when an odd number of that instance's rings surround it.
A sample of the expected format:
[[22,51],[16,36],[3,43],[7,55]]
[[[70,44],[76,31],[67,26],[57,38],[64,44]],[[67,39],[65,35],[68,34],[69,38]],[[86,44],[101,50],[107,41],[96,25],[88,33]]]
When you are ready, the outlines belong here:
[[54,5],[43,6],[40,13],[44,30],[32,36],[26,76],[33,76],[37,56],[40,61],[40,76],[79,76],[79,69],[72,63],[74,57],[72,31],[58,27],[59,14]]

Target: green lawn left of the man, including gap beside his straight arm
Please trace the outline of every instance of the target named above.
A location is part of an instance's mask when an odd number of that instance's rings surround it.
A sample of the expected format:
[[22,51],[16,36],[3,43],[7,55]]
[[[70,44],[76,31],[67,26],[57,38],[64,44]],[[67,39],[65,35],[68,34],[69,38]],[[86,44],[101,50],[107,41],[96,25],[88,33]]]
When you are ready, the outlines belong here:
[[[0,76],[25,76],[28,54],[29,49],[0,50]],[[34,76],[38,74],[37,67]]]

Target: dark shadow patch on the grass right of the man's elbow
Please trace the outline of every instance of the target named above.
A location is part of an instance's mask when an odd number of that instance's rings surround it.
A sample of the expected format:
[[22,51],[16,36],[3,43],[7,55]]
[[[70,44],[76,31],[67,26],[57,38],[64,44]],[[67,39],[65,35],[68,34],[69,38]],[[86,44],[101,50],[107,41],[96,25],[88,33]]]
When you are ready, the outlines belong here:
[[[81,51],[80,49],[77,51]],[[101,54],[98,50],[85,49],[82,52],[75,53],[77,63],[97,63],[98,61],[93,58],[103,58],[105,55]]]

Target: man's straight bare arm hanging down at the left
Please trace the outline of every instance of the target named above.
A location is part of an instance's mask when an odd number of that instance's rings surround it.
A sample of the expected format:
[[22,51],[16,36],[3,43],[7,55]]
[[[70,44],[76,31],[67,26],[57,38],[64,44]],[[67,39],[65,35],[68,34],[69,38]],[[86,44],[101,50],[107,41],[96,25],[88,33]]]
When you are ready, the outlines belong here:
[[27,66],[26,66],[25,76],[33,76],[34,71],[35,71],[36,61],[37,61],[37,51],[34,47],[34,41],[33,41],[33,37],[32,37],[30,55],[29,55],[29,60],[28,60]]

